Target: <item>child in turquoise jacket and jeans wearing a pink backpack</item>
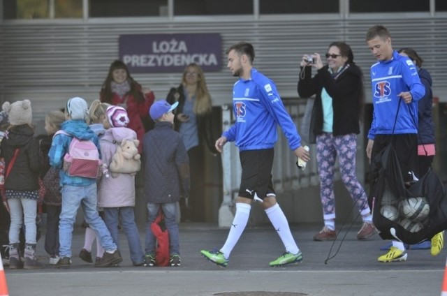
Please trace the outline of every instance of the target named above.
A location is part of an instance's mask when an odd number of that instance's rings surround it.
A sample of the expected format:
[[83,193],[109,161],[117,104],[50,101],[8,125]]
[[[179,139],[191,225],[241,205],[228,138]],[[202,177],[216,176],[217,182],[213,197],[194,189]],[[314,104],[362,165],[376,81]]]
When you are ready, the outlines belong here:
[[101,151],[98,137],[87,126],[87,102],[75,97],[68,100],[66,121],[52,140],[48,156],[50,165],[61,169],[62,210],[59,221],[59,268],[71,265],[71,240],[76,213],[82,204],[85,220],[93,226],[105,249],[101,262],[95,267],[110,267],[122,261],[104,221],[99,217],[96,178],[100,170]]

